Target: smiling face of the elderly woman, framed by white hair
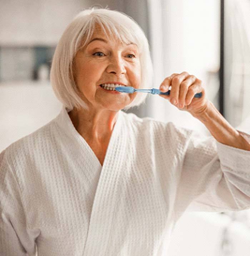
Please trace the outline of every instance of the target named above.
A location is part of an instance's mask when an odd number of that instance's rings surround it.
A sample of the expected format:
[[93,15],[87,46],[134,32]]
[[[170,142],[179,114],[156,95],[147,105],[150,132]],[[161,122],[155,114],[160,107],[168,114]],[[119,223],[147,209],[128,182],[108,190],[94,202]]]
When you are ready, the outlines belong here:
[[136,93],[120,93],[100,86],[122,83],[139,88],[141,67],[135,44],[121,44],[96,29],[90,43],[77,52],[74,63],[74,80],[90,110],[118,111],[135,98]]

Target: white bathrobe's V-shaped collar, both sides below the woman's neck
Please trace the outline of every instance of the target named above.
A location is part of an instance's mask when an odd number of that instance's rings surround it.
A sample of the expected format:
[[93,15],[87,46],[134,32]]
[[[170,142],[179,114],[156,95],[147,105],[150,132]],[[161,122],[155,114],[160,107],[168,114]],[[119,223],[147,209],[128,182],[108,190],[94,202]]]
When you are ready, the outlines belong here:
[[[63,107],[59,116],[57,116],[56,122],[72,138],[72,144],[74,143],[75,148],[77,148],[76,154],[78,150],[82,150],[84,154],[89,156],[90,161],[93,161],[93,164],[89,164],[91,170],[83,171],[92,172],[94,175],[95,172],[101,169],[83,256],[105,255],[111,234],[112,216],[116,211],[116,207],[119,207],[116,204],[117,197],[121,189],[124,171],[127,170],[128,130],[126,129],[127,124],[125,121],[126,113],[122,111],[118,112],[118,118],[110,137],[105,160],[103,166],[101,166],[90,146],[76,131],[67,112],[69,110]],[[61,140],[63,140],[63,137]],[[73,149],[71,145],[69,146]],[[83,162],[82,166],[86,167],[86,163]],[[96,246],[100,242],[101,246]]]

